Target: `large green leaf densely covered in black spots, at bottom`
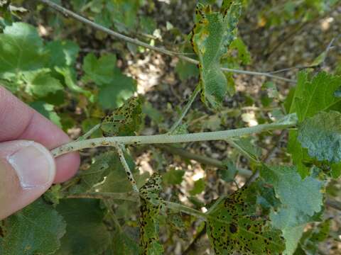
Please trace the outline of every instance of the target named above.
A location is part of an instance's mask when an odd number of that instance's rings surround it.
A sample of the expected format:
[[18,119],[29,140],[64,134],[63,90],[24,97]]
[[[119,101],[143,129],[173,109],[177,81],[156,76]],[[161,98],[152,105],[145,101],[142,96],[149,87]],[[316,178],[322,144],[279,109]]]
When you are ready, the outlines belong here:
[[281,231],[256,216],[256,188],[242,188],[209,212],[207,234],[215,254],[281,254]]

